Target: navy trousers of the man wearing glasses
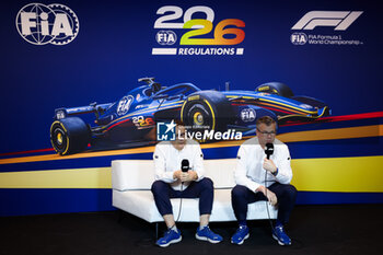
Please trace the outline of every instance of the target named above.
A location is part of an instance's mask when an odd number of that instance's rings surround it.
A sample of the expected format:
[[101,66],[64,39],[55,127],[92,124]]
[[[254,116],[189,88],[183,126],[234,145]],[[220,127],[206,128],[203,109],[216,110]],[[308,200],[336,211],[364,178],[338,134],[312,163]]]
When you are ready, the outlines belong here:
[[[269,190],[276,194],[278,199],[278,217],[277,219],[286,224],[289,221],[291,211],[295,204],[297,189],[291,184],[274,183],[268,187]],[[247,204],[259,200],[267,200],[265,195],[260,192],[253,193],[247,187],[236,185],[231,190],[231,204],[237,221],[246,220]]]

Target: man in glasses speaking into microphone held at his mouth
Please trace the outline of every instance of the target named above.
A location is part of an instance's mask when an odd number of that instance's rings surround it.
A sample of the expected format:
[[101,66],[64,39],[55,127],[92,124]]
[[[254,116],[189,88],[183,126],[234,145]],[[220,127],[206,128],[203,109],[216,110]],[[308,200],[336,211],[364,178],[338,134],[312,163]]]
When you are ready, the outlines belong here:
[[[280,245],[291,245],[283,224],[289,221],[294,207],[297,189],[290,184],[292,171],[289,148],[276,139],[277,124],[264,116],[256,121],[256,137],[245,141],[237,153],[235,169],[236,186],[232,189],[232,206],[240,228],[231,239],[234,244],[243,244],[249,236],[246,224],[247,205],[257,200],[268,200],[278,206],[278,217],[272,237]],[[266,143],[274,144],[274,153],[267,159]]]

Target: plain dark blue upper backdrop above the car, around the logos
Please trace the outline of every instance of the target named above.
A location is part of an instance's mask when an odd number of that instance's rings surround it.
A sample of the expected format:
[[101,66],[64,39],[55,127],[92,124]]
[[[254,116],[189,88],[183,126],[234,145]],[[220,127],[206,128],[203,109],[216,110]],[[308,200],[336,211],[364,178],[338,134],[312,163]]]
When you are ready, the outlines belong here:
[[[334,115],[382,109],[382,9],[372,1],[66,1],[80,30],[67,45],[33,45],[18,32],[18,12],[30,1],[5,1],[0,18],[3,39],[0,82],[0,152],[49,148],[54,109],[108,103],[153,76],[170,85],[193,82],[201,89],[254,90],[263,82],[281,81],[295,94],[324,100]],[[40,1],[50,4],[49,1]],[[234,45],[243,55],[155,56],[156,11],[176,5],[183,14],[195,5],[213,10],[216,26],[225,19],[245,22],[244,40]],[[291,30],[310,11],[362,11],[346,31],[316,26]],[[195,13],[204,18],[204,13]],[[174,22],[183,22],[182,18]],[[185,30],[173,30],[178,37]],[[181,32],[182,31],[182,32]],[[341,36],[360,45],[294,45],[290,36]],[[212,32],[205,37],[212,37]],[[175,47],[181,48],[177,40]],[[190,46],[192,47],[192,46]],[[197,46],[193,46],[198,48]],[[200,46],[221,47],[221,46]],[[228,46],[229,47],[229,46]]]

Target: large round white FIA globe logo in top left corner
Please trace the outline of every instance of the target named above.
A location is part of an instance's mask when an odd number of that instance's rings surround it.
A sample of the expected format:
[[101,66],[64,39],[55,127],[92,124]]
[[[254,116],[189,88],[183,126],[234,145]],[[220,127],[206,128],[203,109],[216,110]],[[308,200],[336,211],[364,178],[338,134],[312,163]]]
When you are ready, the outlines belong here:
[[76,13],[63,4],[30,3],[19,11],[16,28],[34,45],[66,45],[78,35],[80,23]]

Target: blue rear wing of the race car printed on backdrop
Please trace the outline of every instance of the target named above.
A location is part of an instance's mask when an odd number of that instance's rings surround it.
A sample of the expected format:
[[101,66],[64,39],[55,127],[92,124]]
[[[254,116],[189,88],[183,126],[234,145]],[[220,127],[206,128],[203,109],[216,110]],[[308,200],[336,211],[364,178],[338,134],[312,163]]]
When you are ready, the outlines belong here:
[[92,103],[88,106],[71,107],[71,108],[57,108],[55,109],[55,119],[66,118],[68,116],[80,115],[80,114],[90,114],[94,113],[96,117],[103,114],[106,109],[111,108],[114,103],[107,104],[96,104]]

